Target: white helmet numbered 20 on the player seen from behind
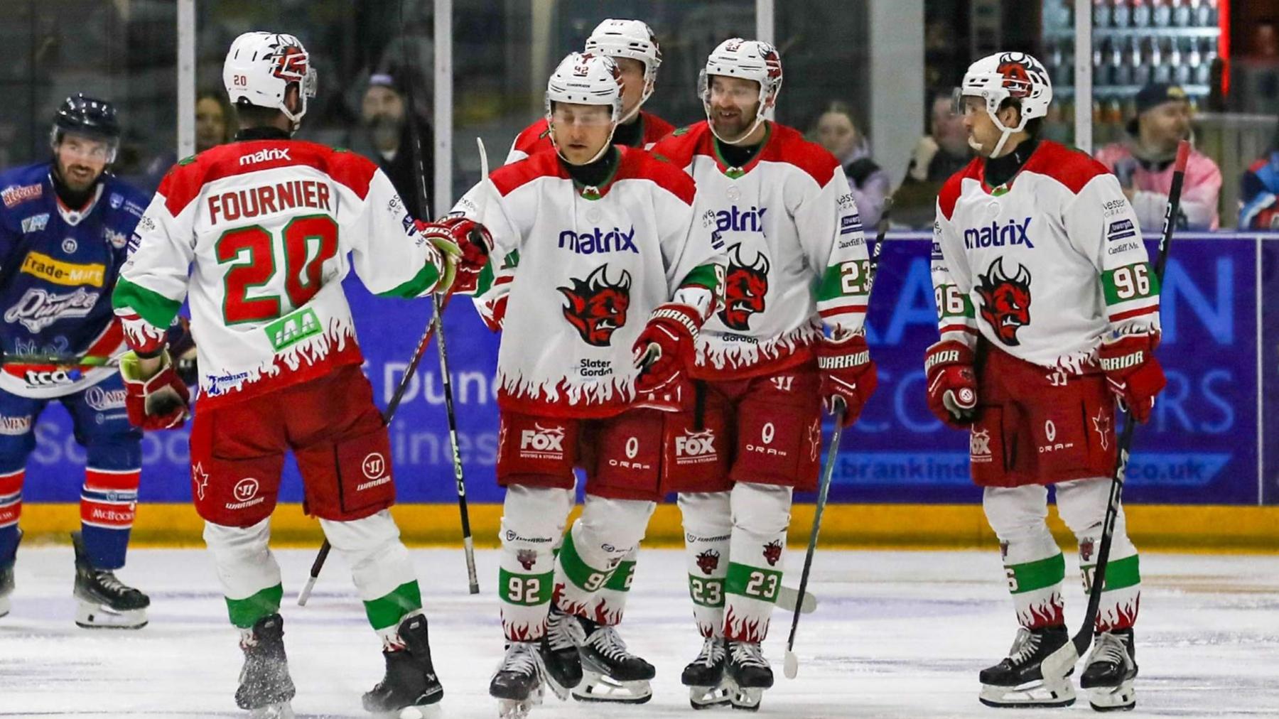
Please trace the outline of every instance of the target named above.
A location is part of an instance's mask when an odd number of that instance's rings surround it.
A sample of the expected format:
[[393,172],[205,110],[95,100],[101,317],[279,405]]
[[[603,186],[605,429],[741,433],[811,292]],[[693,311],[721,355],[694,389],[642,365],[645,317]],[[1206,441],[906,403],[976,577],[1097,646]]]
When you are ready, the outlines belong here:
[[[290,84],[298,84],[302,107],[293,113],[284,102]],[[307,97],[316,96],[316,70],[311,55],[292,35],[246,32],[231,42],[223,63],[223,84],[231,105],[248,102],[276,107],[294,124],[307,114]]]

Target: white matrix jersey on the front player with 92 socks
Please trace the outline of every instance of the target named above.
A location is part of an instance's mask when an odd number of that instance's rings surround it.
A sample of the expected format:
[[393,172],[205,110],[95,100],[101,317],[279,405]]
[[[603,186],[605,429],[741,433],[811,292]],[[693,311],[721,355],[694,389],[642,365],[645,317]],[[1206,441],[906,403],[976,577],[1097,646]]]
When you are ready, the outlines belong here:
[[642,150],[618,152],[599,187],[538,152],[499,168],[453,209],[487,226],[495,253],[518,262],[505,285],[480,288],[509,292],[498,351],[504,409],[582,418],[625,409],[631,347],[654,308],[698,288],[705,315],[718,296],[723,249],[693,223],[693,182]]

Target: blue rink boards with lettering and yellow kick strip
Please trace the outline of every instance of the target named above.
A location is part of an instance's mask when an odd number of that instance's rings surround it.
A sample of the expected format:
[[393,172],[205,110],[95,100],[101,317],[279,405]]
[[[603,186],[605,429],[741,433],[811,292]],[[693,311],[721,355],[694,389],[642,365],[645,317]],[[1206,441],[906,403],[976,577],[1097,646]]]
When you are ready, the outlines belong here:
[[[932,418],[923,395],[923,351],[936,339],[931,237],[912,233],[890,239],[867,319],[880,385],[862,420],[844,432],[822,536],[865,545],[980,544],[989,537],[980,491],[968,477],[967,435]],[[1275,239],[1279,235],[1183,233],[1174,241],[1163,285],[1160,347],[1169,386],[1151,423],[1137,432],[1126,487],[1137,536],[1163,537],[1155,541],[1168,545],[1279,548]],[[1147,246],[1154,253],[1152,239]],[[372,298],[354,278],[348,288],[365,370],[385,402],[430,319],[430,303]],[[1035,304],[1032,284],[1031,321],[1048,311]],[[487,544],[495,537],[501,500],[492,478],[498,338],[462,298],[446,312],[445,330],[475,533]],[[418,541],[448,541],[458,533],[439,377],[432,345],[391,429],[398,513],[405,533]],[[36,431],[23,493],[23,527],[32,535],[74,526],[83,481],[83,452],[70,436],[65,412],[51,407]],[[197,540],[200,523],[187,504],[187,431],[148,435],[143,457],[139,539]],[[290,462],[281,502],[299,500],[301,482]],[[673,509],[659,512],[650,537],[678,541]],[[796,514],[796,526],[807,527],[807,508]],[[302,540],[312,522],[298,505],[284,505],[275,527]]]

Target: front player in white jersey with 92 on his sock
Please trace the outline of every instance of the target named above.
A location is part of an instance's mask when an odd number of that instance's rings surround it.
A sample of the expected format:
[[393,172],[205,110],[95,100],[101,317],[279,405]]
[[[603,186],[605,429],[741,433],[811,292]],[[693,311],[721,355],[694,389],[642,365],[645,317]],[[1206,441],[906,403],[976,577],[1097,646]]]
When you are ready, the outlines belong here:
[[[629,582],[623,559],[663,496],[668,413],[633,400],[665,399],[678,384],[723,279],[723,252],[693,221],[693,182],[610,142],[622,118],[613,59],[564,58],[546,114],[555,151],[496,170],[435,230],[491,232],[499,252],[519,255],[498,353],[508,644],[489,691],[503,716],[526,715],[544,679],[561,697],[579,682],[605,692],[590,699],[651,696],[654,668],[618,637],[616,594],[601,592]],[[650,345],[656,361],[637,372]],[[586,505],[556,558],[574,466]]]

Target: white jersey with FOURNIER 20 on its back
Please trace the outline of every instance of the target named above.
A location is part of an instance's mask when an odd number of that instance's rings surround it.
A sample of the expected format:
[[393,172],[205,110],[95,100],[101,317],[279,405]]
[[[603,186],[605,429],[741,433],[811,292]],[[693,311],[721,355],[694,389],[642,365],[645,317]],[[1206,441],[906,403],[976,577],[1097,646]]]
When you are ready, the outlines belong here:
[[[341,280],[435,290],[443,257],[376,165],[311,142],[223,145],[174,166],[114,294],[141,345],[191,298],[202,402],[220,404],[363,362]],[[194,269],[192,269],[194,264]],[[133,326],[130,326],[133,325]]]

